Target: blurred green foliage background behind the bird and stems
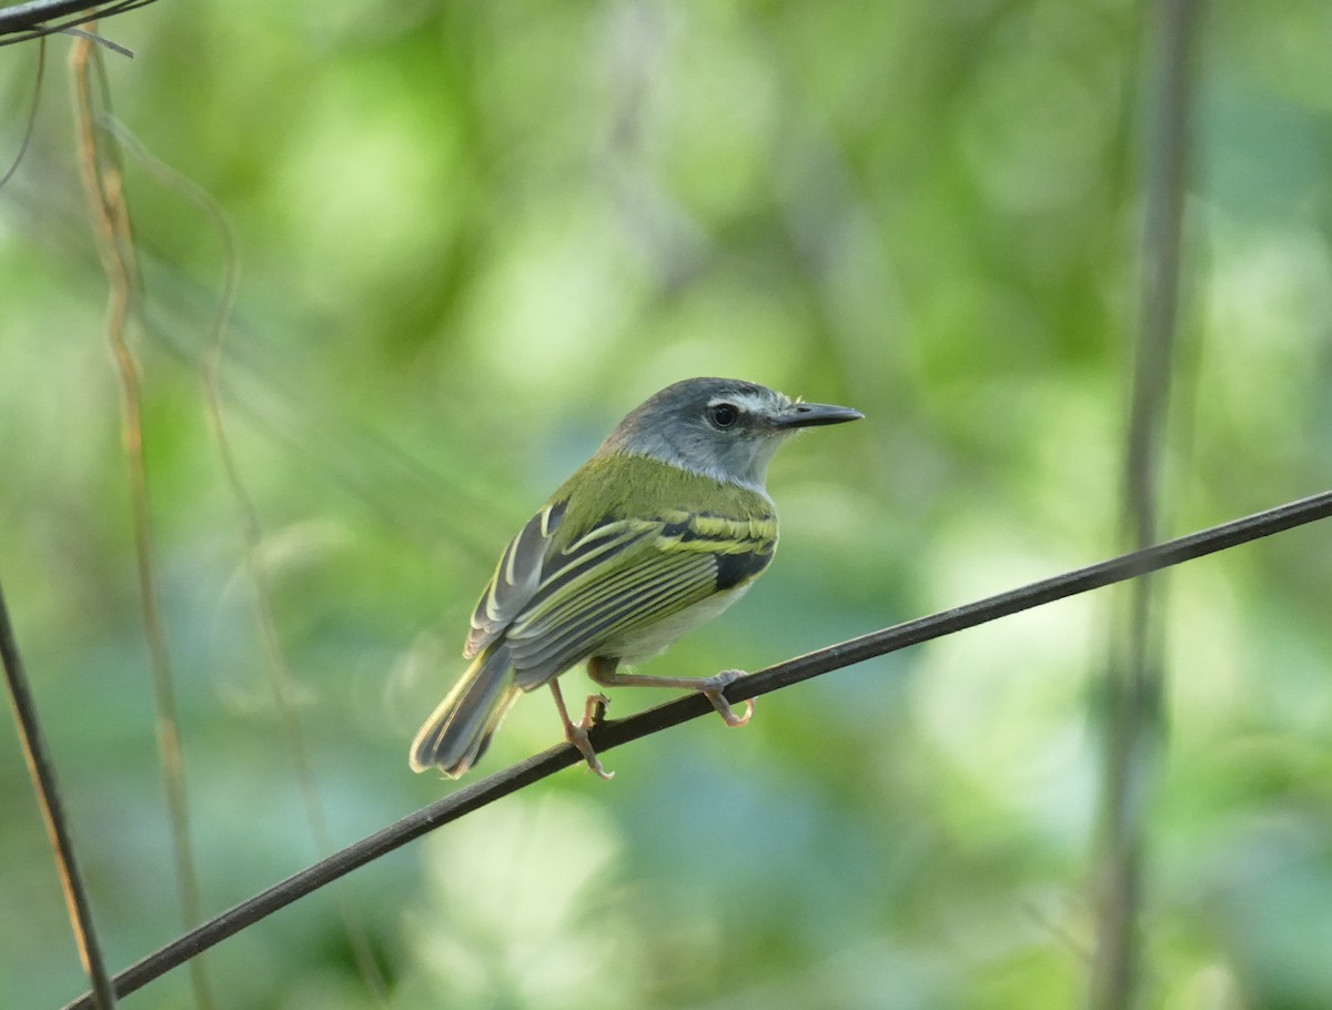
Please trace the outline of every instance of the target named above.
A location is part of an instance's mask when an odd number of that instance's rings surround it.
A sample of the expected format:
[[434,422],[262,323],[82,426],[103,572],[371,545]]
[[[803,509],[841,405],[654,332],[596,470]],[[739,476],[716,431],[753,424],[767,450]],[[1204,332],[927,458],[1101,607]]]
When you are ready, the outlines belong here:
[[[406,745],[496,556],[677,378],[866,421],[783,452],[777,564],[651,672],[757,669],[1119,546],[1142,4],[164,0],[103,32],[135,51],[105,61],[116,115],[241,249],[224,408],[337,845],[457,787]],[[1332,485],[1329,37],[1312,0],[1203,24],[1171,534]],[[0,576],[119,969],[178,909],[69,45],[0,191]],[[36,60],[3,51],[5,160]],[[125,175],[214,913],[318,853],[200,380],[222,243]],[[1329,600],[1325,526],[1168,577],[1147,1006],[1332,1006]],[[340,903],[394,1010],[1076,1005],[1108,602],[658,734],[611,783],[563,771],[224,943],[217,1005],[377,1006]],[[557,740],[526,698],[481,773]],[[87,985],[8,729],[0,811],[0,1006],[59,1006]],[[186,973],[124,1005],[190,1005]]]

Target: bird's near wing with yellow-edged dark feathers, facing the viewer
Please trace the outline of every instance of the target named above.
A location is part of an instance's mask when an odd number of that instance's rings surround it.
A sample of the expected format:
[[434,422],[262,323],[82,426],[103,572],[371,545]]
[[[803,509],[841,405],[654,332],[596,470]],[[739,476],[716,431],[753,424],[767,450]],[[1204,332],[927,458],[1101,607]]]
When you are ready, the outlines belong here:
[[777,545],[773,521],[673,513],[593,528],[547,560],[505,633],[518,686],[543,684],[607,645],[757,576]]

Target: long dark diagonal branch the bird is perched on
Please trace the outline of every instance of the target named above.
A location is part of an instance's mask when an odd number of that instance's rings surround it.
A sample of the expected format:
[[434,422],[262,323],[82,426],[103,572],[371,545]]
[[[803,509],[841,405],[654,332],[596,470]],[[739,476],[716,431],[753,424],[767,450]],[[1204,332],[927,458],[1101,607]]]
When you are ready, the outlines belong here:
[[[735,702],[757,698],[761,694],[769,694],[910,645],[919,645],[1055,600],[1136,578],[1183,561],[1215,554],[1219,550],[1328,517],[1332,517],[1332,490],[787,660],[735,681],[726,689],[726,697]],[[602,722],[593,729],[591,742],[598,752],[611,750],[621,744],[629,744],[710,713],[713,713],[711,702],[701,694],[689,694],[626,720]],[[216,919],[149,954],[116,975],[116,991],[121,995],[133,993],[170,969],[272,915],[278,909],[286,907],[298,898],[312,894],[330,881],[374,862],[381,855],[457,821],[473,810],[493,803],[501,797],[575,765],[581,759],[574,748],[562,745],[465,786],[457,793],[404,817],[397,823],[334,853],[328,859],[274,883],[249,901],[236,905]],[[92,1003],[89,997],[84,995],[68,1003],[64,1010],[92,1010]]]

